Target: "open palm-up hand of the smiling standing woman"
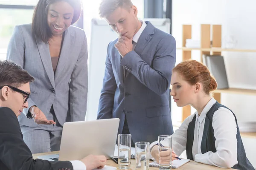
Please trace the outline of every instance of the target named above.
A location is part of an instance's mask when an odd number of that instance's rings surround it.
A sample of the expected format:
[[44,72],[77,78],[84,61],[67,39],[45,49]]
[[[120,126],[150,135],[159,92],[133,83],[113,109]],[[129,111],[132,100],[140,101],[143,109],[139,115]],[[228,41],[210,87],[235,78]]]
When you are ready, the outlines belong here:
[[48,120],[44,113],[36,106],[32,106],[29,109],[29,112],[32,114],[32,117],[34,119],[34,122],[36,122],[38,125],[44,124],[44,125],[52,125],[56,124],[53,120]]

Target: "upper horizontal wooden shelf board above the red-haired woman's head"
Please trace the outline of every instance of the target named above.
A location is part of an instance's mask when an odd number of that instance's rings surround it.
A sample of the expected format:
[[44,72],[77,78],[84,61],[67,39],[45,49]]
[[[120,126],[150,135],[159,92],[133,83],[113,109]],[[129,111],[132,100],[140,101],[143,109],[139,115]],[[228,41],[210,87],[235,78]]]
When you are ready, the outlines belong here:
[[253,49],[227,49],[227,48],[186,48],[181,47],[177,48],[177,50],[183,50],[183,51],[192,51],[192,50],[200,50],[200,51],[213,51],[213,52],[221,52],[221,51],[233,51],[233,52],[256,52],[256,50]]

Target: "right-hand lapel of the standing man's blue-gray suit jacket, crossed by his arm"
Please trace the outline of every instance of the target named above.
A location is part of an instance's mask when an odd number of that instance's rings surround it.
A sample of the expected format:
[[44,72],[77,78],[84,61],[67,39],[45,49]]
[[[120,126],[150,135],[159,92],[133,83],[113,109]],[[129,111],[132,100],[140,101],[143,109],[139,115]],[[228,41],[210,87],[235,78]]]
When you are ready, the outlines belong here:
[[[144,48],[146,47],[148,42],[152,39],[151,35],[154,34],[154,28],[155,27],[149,21],[146,21],[145,23],[147,24],[147,26],[145,27],[145,29],[141,33],[140,38],[137,42],[137,45],[134,48],[134,51],[139,56],[141,56]],[[125,75],[125,78],[128,77],[129,74],[130,74],[130,72],[127,71],[127,74]]]

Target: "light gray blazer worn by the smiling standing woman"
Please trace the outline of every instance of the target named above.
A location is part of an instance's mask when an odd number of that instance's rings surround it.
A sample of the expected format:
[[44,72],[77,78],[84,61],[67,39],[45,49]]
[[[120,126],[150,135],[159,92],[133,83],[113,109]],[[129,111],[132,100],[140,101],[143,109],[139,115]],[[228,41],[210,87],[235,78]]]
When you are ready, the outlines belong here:
[[[52,69],[49,45],[32,35],[32,25],[16,26],[7,50],[7,59],[29,72],[35,81],[30,83],[29,108],[38,106],[47,116],[53,105],[58,122],[82,121],[87,105],[87,39],[82,29],[70,26],[55,73]],[[20,125],[38,126],[23,109]]]

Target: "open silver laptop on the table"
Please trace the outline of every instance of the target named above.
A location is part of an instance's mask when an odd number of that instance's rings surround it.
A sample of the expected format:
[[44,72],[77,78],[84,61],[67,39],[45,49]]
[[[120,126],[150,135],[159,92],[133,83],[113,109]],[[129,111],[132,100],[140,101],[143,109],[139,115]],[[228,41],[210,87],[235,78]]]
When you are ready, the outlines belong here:
[[114,155],[119,119],[66,122],[63,125],[59,154],[38,156],[49,161],[81,160],[93,155]]

